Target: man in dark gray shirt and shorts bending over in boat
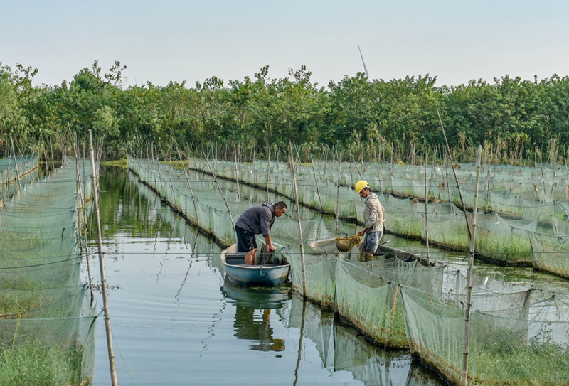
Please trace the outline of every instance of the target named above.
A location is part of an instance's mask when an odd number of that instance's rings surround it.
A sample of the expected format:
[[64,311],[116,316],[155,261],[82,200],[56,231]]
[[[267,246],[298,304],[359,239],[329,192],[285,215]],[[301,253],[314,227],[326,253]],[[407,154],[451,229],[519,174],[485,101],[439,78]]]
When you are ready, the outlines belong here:
[[285,213],[287,213],[287,204],[282,201],[275,205],[262,203],[241,213],[235,223],[235,233],[237,234],[237,252],[247,252],[245,264],[255,264],[255,253],[257,253],[255,235],[265,237],[267,251],[272,252],[277,249],[272,245],[271,227],[275,223],[275,218]]

